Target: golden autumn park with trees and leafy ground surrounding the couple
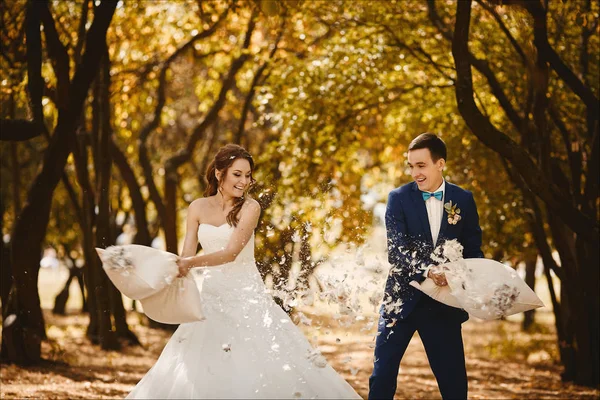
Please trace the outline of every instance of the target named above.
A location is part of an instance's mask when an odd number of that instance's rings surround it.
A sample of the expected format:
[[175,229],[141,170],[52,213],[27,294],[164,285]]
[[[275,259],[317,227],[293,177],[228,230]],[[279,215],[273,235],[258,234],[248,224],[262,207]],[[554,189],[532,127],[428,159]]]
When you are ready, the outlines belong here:
[[[177,326],[122,295],[95,248],[181,254],[228,143],[255,163],[267,290],[367,398],[388,194],[432,132],[446,181],[473,193],[485,257],[544,303],[463,324],[469,398],[597,399],[599,13],[596,0],[2,1],[0,398],[127,396]],[[441,398],[418,335],[395,397]]]

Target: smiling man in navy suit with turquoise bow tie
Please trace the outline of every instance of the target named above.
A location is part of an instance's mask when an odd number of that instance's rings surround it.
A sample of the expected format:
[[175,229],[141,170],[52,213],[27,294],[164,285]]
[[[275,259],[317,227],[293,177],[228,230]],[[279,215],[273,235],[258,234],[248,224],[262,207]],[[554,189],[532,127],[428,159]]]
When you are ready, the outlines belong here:
[[[430,268],[431,253],[444,241],[457,239],[464,258],[483,257],[481,228],[471,192],[448,183],[442,172],[446,144],[432,133],[416,137],[408,147],[414,182],[390,192],[385,214],[388,256],[392,265],[381,307],[369,399],[392,399],[400,360],[415,331],[444,399],[467,398],[467,372],[461,324],[469,317],[409,285],[431,278],[447,285],[443,273]],[[449,202],[456,205],[454,209]],[[460,211],[459,211],[460,210]]]

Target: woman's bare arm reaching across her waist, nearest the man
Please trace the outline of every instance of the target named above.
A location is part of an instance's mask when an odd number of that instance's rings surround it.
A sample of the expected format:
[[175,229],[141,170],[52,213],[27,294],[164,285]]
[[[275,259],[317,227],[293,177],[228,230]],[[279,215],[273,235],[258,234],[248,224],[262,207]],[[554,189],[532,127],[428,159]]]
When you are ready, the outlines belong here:
[[258,202],[256,200],[247,201],[240,210],[240,220],[231,234],[227,247],[214,253],[180,259],[177,262],[180,273],[185,275],[194,267],[210,267],[234,261],[252,237],[259,216],[260,205]]

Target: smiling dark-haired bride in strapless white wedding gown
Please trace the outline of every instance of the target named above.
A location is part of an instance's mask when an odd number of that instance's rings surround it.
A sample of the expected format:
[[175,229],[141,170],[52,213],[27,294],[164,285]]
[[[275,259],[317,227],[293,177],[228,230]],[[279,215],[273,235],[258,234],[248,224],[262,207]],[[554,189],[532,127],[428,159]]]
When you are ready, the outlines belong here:
[[[206,319],[182,324],[127,398],[359,399],[266,291],[254,262],[252,156],[222,147],[188,209],[179,273],[202,270]],[[203,255],[196,256],[200,241]]]

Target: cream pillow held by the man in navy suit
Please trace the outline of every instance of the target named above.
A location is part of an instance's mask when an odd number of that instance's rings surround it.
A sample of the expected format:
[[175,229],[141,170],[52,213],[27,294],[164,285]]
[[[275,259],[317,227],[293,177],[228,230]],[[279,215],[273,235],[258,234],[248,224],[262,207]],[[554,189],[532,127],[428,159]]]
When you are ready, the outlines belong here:
[[474,317],[498,319],[544,306],[514,269],[497,261],[468,258],[441,267],[452,295]]

